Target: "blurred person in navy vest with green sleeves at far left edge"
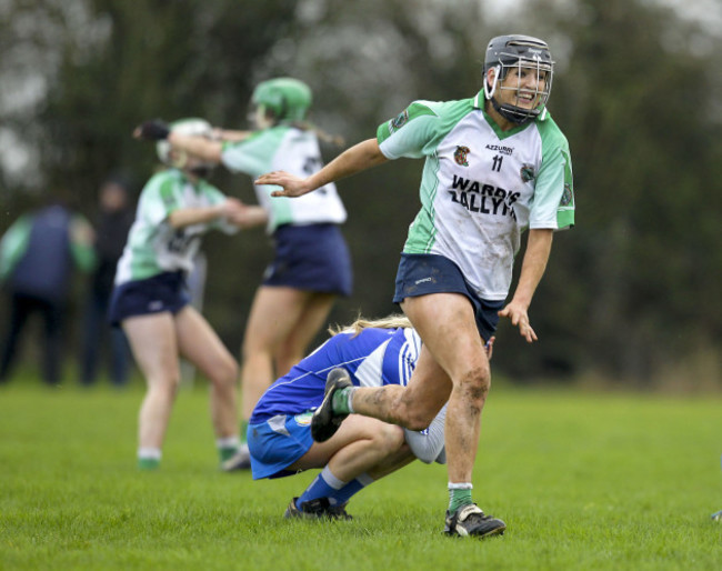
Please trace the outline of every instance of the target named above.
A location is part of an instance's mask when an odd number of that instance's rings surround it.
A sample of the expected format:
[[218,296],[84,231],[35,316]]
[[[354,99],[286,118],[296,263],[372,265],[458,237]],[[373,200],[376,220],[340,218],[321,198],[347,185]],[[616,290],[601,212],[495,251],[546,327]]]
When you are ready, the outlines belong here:
[[10,297],[0,382],[9,379],[28,318],[40,313],[44,322],[42,379],[60,383],[63,318],[73,267],[89,271],[93,263],[92,228],[61,203],[24,214],[8,229],[0,241],[0,281]]

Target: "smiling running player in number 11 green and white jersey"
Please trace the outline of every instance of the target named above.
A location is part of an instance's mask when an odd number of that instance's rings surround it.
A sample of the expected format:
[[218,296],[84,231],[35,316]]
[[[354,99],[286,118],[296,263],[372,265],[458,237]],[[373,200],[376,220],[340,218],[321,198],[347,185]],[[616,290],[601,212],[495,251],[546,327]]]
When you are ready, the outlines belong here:
[[[505,523],[472,500],[481,412],[491,385],[484,341],[500,317],[537,340],[529,305],[544,273],[555,230],[574,222],[569,144],[546,111],[553,61],[546,43],[500,36],[487,48],[483,89],[459,101],[414,101],[377,137],[347,150],[315,174],[271,172],[257,184],[273,196],[303,196],[388,160],[424,158],[421,210],[409,227],[393,301],[423,340],[408,388],[330,387],[313,417],[314,439],[332,435],[337,415],[358,412],[414,429],[449,401],[449,535],[483,538]],[[521,272],[508,303],[521,233]],[[335,393],[335,394],[334,394]],[[317,438],[318,434],[318,438]]]

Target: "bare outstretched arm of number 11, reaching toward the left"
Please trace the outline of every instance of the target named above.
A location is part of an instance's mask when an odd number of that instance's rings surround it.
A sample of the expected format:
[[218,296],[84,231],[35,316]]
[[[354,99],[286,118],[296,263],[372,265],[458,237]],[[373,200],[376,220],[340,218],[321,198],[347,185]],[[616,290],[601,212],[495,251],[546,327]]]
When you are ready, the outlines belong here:
[[350,177],[362,170],[388,161],[375,139],[368,139],[347,149],[319,172],[302,179],[284,171],[269,172],[255,179],[257,184],[278,184],[282,190],[271,192],[272,197],[300,197],[329,182]]

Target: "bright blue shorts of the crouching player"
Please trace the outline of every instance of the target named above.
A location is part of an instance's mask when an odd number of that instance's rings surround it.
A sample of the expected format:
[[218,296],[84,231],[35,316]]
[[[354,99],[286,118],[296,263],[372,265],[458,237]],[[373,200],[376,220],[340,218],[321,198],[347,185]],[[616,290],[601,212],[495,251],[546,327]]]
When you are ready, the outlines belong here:
[[298,472],[287,468],[313,445],[312,414],[311,411],[295,417],[279,414],[264,422],[249,424],[248,448],[253,480],[282,478]]

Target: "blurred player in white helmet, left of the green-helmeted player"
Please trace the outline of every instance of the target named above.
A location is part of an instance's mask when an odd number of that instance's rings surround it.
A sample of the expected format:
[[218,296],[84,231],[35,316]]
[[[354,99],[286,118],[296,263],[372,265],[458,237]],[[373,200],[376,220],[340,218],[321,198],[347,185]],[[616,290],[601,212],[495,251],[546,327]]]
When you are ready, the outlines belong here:
[[[173,123],[182,132],[210,136],[202,119]],[[118,262],[110,307],[148,383],[139,418],[138,462],[154,469],[180,382],[179,357],[211,383],[211,419],[221,461],[239,445],[238,364],[205,319],[189,303],[187,274],[208,230],[243,226],[244,207],[205,182],[211,166],[158,143],[168,166],[143,188],[128,244]]]

